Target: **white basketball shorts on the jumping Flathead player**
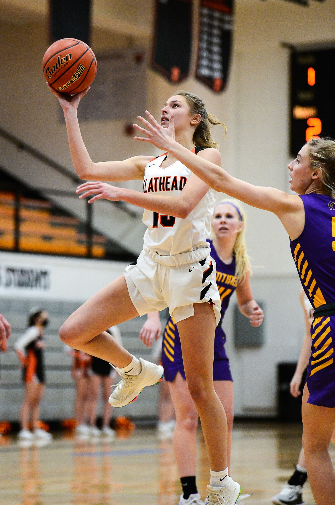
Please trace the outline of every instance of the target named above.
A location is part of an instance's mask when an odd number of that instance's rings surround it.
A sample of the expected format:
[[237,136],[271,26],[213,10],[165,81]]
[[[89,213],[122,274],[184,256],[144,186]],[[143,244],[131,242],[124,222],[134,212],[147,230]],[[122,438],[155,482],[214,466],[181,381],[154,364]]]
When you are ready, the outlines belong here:
[[174,256],[142,250],[136,265],[129,265],[124,275],[129,296],[140,316],[169,307],[170,315],[178,323],[194,316],[193,304],[208,302],[218,324],[221,301],[215,268],[209,247]]

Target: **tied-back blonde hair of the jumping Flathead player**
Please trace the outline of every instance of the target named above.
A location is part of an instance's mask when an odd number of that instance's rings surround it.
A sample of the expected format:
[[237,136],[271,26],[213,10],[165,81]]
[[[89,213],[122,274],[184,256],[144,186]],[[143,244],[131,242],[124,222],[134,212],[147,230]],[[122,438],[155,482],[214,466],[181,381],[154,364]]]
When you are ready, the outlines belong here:
[[189,93],[188,91],[177,91],[176,95],[184,96],[188,106],[190,108],[190,116],[194,118],[197,114],[200,114],[201,121],[195,129],[193,134],[193,143],[200,147],[215,147],[218,148],[218,144],[213,140],[211,134],[211,127],[214,125],[222,125],[224,127],[224,136],[227,133],[227,128],[224,123],[221,123],[216,116],[208,114],[206,111],[205,104],[199,96]]

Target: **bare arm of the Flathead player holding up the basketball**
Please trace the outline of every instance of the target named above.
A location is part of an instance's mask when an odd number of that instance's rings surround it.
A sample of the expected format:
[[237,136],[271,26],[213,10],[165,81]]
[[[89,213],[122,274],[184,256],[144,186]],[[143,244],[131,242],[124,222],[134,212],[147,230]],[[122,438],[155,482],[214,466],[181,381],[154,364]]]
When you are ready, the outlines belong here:
[[102,181],[143,179],[145,165],[152,158],[150,156],[134,156],[127,160],[116,162],[92,162],[81,136],[77,117],[78,105],[90,89],[89,87],[73,96],[59,93],[49,84],[48,88],[58,98],[62,106],[73,166],[81,179]]

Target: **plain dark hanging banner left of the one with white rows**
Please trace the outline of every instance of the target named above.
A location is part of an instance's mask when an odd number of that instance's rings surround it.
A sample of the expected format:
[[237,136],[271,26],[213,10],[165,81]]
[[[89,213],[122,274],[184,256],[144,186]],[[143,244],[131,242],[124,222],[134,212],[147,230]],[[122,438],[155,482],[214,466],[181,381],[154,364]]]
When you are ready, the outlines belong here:
[[172,82],[188,76],[192,0],[156,0],[151,67]]

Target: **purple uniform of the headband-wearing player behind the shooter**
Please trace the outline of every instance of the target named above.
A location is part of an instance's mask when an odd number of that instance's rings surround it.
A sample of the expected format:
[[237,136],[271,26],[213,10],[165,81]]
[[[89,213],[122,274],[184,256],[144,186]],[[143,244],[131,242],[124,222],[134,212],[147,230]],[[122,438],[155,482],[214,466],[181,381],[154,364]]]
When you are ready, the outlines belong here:
[[[237,287],[238,278],[235,277],[235,258],[230,265],[226,265],[217,256],[212,242],[208,239],[207,242],[210,243],[210,256],[216,263],[216,284],[221,299],[221,319],[215,329],[214,337],[213,380],[233,381],[225,349],[226,334],[221,324],[228,308],[229,300]],[[194,343],[196,345],[196,342]],[[163,333],[162,365],[167,382],[173,382],[178,372],[183,379],[186,379],[180,337],[177,325],[172,317],[167,321]]]

